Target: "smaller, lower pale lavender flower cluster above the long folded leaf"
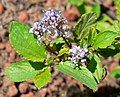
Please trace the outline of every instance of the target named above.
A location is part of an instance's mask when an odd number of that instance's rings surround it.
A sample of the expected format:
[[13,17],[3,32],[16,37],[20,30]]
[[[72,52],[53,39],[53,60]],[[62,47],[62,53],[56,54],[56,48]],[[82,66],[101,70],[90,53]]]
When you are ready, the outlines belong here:
[[80,63],[85,63],[86,58],[88,57],[88,50],[85,48],[81,48],[80,46],[72,46],[70,49],[71,54],[71,62],[75,65]]

